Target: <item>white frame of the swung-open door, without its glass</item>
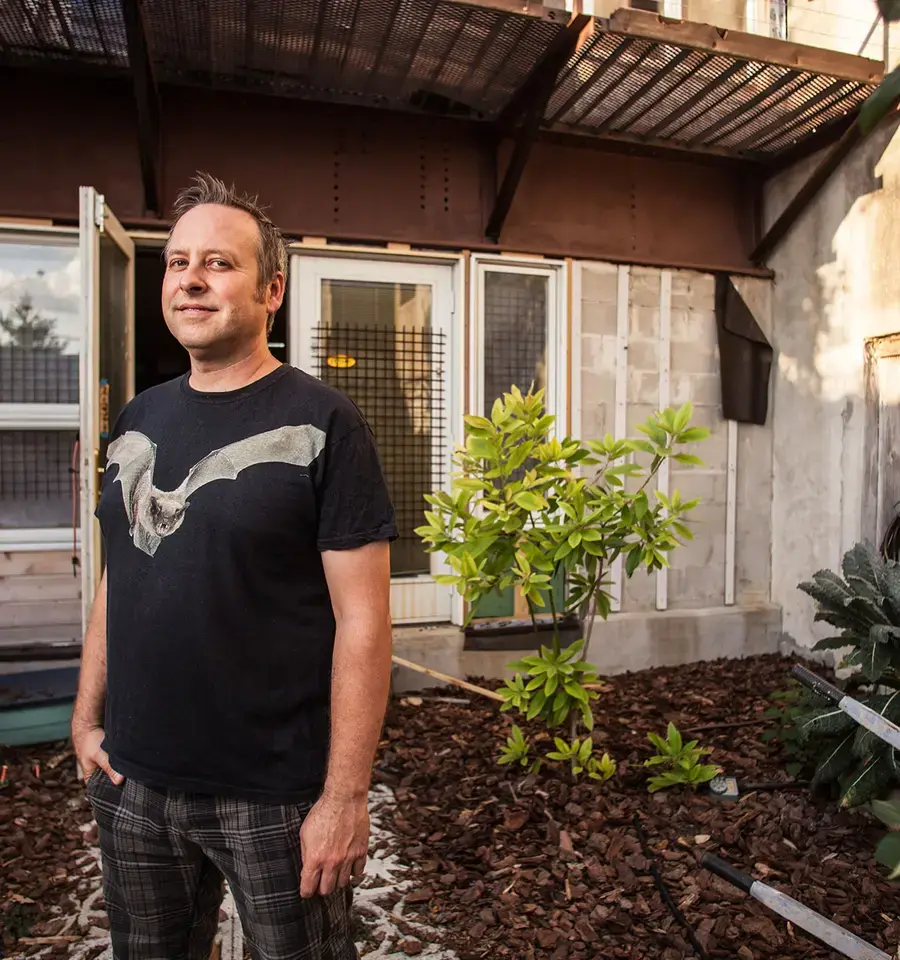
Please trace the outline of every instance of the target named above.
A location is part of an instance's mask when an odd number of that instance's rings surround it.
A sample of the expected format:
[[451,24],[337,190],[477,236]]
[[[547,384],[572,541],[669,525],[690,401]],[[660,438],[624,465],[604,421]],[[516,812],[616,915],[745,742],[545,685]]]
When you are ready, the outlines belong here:
[[[81,350],[81,611],[82,627],[87,630],[94,594],[100,582],[100,531],[94,509],[100,491],[100,242],[108,236],[122,251],[131,269],[126,286],[125,396],[134,396],[134,241],[116,219],[102,194],[93,187],[80,187],[79,248],[81,256],[81,309],[84,339]],[[110,424],[110,428],[111,428]]]

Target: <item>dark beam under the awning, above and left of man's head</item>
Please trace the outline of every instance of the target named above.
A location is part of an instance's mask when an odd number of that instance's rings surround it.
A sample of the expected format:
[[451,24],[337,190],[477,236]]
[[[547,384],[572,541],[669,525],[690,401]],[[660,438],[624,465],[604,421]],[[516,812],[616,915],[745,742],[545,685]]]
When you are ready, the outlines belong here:
[[144,206],[150,213],[161,216],[159,94],[141,16],[141,0],[123,0],[122,18],[125,24],[128,63],[131,67],[132,89],[137,109],[138,152],[144,186]]

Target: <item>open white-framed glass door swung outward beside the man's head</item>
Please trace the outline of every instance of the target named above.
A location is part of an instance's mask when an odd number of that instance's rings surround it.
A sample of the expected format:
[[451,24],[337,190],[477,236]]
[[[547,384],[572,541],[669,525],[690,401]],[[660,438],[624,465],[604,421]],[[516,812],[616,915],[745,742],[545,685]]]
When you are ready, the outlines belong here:
[[103,571],[94,510],[113,424],[134,396],[134,243],[102,194],[79,189],[81,311],[81,610],[82,627]]

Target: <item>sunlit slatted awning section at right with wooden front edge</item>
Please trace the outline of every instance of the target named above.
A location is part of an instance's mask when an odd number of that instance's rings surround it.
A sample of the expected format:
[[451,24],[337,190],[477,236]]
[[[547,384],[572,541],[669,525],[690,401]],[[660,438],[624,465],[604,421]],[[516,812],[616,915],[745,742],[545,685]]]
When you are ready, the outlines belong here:
[[620,10],[550,99],[551,129],[767,159],[859,107],[876,61]]

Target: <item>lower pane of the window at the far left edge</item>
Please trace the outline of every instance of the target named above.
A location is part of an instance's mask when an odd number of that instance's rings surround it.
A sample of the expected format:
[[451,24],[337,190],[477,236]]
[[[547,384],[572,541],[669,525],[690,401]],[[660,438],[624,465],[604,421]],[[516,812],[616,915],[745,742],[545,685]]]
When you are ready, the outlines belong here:
[[0,528],[76,525],[75,430],[0,431]]

